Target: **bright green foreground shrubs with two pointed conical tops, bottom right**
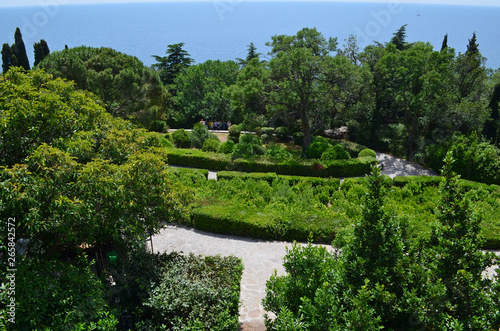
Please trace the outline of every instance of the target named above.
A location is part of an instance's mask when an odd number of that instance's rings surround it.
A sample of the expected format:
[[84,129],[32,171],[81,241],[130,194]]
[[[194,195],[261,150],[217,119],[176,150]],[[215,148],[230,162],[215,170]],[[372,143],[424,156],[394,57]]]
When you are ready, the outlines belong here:
[[[449,171],[449,167],[448,167]],[[264,308],[283,330],[489,330],[500,326],[500,288],[482,276],[477,219],[449,172],[430,240],[385,206],[384,179],[370,178],[363,216],[341,253],[295,245],[287,274],[271,277]],[[465,200],[464,200],[465,198]],[[457,231],[458,229],[458,231]]]

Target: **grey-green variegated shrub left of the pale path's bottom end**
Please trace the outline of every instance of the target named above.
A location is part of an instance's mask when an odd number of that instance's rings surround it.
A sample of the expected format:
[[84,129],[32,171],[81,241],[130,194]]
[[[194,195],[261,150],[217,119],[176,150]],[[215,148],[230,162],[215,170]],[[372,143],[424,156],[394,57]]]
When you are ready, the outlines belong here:
[[235,330],[242,273],[241,260],[233,256],[169,257],[144,302],[152,326],[180,330],[196,323],[202,329]]

